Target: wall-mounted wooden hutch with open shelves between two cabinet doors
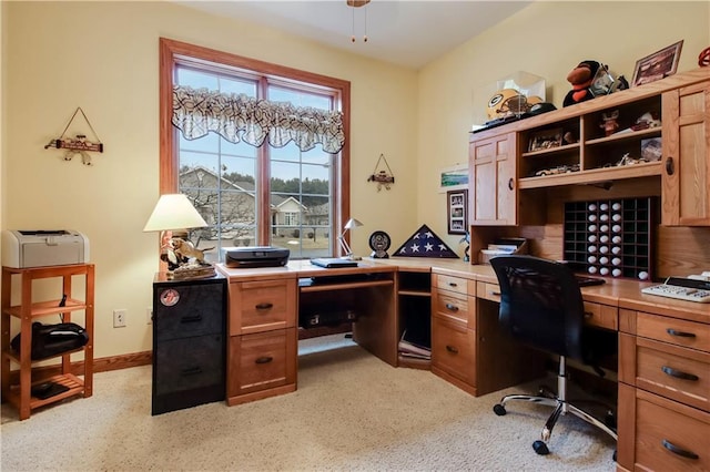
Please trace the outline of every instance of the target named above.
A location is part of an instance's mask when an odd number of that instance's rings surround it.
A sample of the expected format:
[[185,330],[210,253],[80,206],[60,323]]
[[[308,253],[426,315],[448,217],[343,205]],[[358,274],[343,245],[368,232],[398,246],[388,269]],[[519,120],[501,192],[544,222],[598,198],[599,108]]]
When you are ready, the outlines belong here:
[[[618,127],[607,135],[610,115]],[[659,158],[639,161],[658,141]],[[710,226],[710,70],[471,133],[469,174],[473,226],[545,224],[535,189],[631,179],[660,193],[662,225]]]

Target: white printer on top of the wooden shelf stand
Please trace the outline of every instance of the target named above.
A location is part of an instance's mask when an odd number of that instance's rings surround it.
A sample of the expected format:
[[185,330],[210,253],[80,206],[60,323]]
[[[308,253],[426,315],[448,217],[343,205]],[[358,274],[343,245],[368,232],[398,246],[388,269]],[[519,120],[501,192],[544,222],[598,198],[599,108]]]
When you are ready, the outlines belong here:
[[2,232],[2,265],[14,268],[89,261],[89,239],[71,229]]

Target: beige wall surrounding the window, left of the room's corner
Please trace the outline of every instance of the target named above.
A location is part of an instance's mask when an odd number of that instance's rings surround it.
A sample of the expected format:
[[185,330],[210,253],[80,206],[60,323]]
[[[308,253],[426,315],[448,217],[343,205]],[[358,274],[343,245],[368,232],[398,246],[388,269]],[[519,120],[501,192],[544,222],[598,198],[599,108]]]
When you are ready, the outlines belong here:
[[[352,214],[365,224],[354,248],[369,254],[366,239],[376,229],[395,242],[415,229],[414,71],[169,2],[2,6],[3,115],[11,117],[2,132],[2,227],[88,235],[97,265],[97,357],[151,349],[145,309],[158,235],[142,229],[159,193],[160,37],[351,81]],[[92,167],[44,150],[77,106],[104,144]],[[378,193],[367,176],[382,153],[396,184]],[[126,328],[112,327],[115,308],[128,309]]]

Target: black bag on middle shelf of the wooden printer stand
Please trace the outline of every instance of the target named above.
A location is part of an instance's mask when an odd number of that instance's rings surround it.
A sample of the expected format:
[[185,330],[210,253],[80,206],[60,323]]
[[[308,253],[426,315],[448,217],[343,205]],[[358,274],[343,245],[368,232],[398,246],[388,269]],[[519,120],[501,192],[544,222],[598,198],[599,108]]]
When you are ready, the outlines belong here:
[[[20,352],[21,335],[12,338],[10,346]],[[87,330],[75,322],[60,322],[57,325],[32,324],[32,360],[44,359],[61,355],[84,346],[89,342]]]

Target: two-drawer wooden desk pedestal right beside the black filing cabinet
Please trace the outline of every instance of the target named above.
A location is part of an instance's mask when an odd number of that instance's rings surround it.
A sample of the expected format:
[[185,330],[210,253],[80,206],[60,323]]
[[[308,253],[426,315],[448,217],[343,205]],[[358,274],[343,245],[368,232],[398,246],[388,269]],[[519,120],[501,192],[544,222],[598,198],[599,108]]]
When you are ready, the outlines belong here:
[[229,284],[227,404],[296,390],[295,275]]

